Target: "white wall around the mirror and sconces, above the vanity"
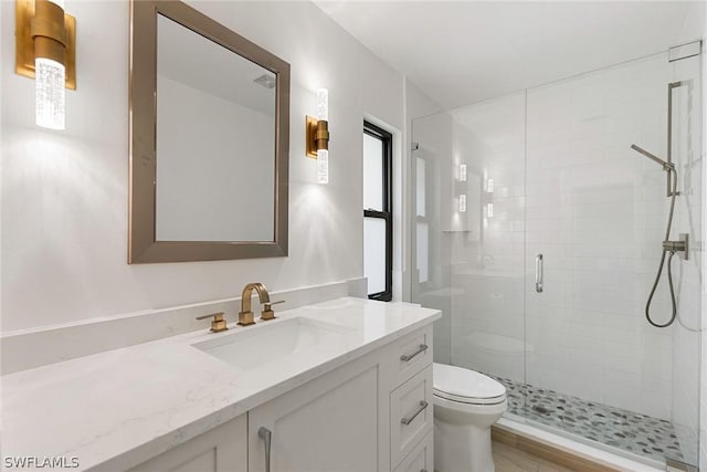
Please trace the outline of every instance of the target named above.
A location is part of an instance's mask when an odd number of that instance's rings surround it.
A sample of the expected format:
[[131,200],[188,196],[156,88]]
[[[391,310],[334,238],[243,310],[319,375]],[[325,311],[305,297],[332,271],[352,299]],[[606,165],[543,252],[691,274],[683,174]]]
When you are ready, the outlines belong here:
[[[3,1],[2,331],[362,275],[365,114],[403,128],[402,76],[309,2],[193,6],[292,65],[289,256],[127,265],[128,2],[66,1],[77,21],[77,90],[67,129],[33,124],[31,80],[15,75],[14,2]],[[304,117],[329,88],[330,183],[305,157]]]

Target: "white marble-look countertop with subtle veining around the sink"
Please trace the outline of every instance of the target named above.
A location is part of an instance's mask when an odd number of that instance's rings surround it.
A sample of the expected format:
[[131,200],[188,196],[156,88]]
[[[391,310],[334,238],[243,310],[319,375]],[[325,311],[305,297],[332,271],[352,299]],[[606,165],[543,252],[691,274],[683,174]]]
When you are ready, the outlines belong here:
[[[77,470],[125,470],[393,339],[440,312],[407,303],[337,298],[255,326],[207,329],[0,377],[2,457],[63,457]],[[305,317],[340,326],[346,342],[307,356],[238,368],[192,346]],[[76,339],[77,343],[81,339]]]

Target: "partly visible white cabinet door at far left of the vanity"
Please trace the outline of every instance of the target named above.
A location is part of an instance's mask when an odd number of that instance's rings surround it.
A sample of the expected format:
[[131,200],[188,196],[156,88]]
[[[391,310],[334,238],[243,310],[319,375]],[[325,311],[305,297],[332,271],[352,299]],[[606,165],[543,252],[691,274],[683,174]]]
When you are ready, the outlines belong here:
[[246,416],[184,442],[130,472],[246,472]]

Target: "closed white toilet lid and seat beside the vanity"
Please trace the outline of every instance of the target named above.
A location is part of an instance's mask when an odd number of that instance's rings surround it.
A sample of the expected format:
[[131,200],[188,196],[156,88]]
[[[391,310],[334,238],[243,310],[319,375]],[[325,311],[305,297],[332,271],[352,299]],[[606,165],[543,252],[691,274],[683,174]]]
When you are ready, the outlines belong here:
[[435,363],[433,375],[437,397],[475,405],[500,403],[506,399],[503,384],[477,371]]

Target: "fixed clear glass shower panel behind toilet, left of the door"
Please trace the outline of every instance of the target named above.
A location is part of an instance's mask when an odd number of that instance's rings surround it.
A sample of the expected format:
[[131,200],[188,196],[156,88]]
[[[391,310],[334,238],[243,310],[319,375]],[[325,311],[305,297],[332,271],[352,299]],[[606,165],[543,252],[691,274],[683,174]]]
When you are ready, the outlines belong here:
[[525,92],[415,119],[413,139],[412,294],[443,313],[435,360],[523,382]]

